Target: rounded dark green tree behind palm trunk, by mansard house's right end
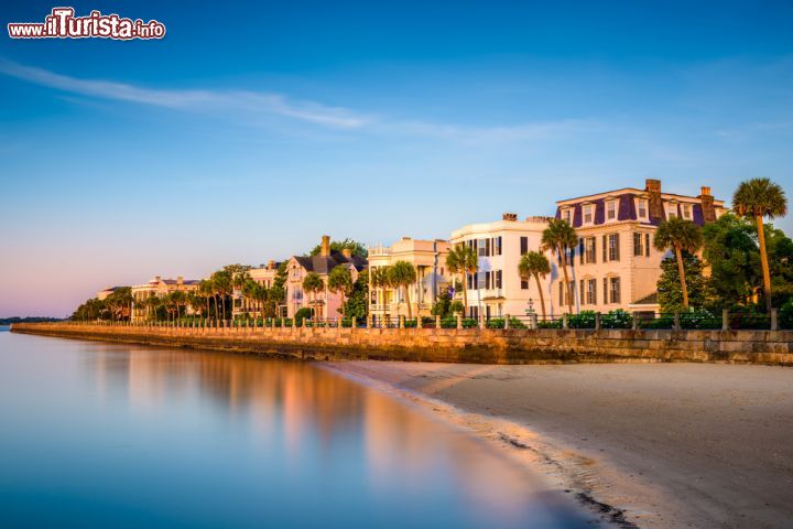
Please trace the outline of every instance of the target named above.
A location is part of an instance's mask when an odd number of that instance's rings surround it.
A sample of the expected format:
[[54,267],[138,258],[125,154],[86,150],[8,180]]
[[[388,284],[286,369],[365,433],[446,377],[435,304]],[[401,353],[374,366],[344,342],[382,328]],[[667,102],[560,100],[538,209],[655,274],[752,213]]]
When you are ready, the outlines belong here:
[[[683,263],[685,283],[681,281],[680,266]],[[688,303],[684,303],[683,288],[687,285]],[[689,306],[702,309],[708,299],[707,280],[703,276],[703,262],[695,255],[682,252],[681,260],[667,257],[661,261],[661,277],[658,282],[661,312],[687,312]]]

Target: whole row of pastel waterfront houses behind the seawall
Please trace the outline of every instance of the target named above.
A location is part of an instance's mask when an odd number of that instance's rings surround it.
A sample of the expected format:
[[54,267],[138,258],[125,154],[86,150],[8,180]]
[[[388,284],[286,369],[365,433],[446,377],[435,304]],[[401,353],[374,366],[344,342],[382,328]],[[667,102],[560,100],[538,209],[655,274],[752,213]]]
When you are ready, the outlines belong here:
[[[702,187],[697,196],[665,193],[659,180],[647,180],[643,188],[624,187],[596,193],[556,203],[555,218],[573,226],[578,244],[567,255],[573,312],[586,310],[609,312],[617,309],[632,313],[658,312],[656,283],[661,276],[661,261],[667,255],[653,247],[656,227],[671,217],[682,217],[702,226],[716,220],[726,212],[723,201],[714,198],[709,187]],[[318,317],[338,317],[343,295],[329,291],[330,271],[339,266],[350,270],[354,281],[363,270],[378,270],[398,261],[410,262],[416,270],[416,281],[405,289],[389,285],[369,287],[369,314],[376,319],[399,315],[428,316],[442,292],[450,292],[463,300],[466,290],[466,316],[498,317],[540,312],[540,292],[548,315],[568,312],[567,289],[561,258],[545,251],[551,273],[540,287],[534,280],[521,278],[518,263],[529,251],[540,251],[542,234],[551,217],[525,217],[504,214],[500,220],[464,226],[448,239],[413,239],[402,237],[391,246],[369,248],[368,259],[349,250],[330,248],[330,238],[323,236],[316,256],[293,256],[286,260],[286,295],[279,305],[279,314],[292,317],[304,307],[316,307]],[[468,245],[478,257],[478,271],[453,277],[446,267],[446,256],[455,245]],[[249,270],[252,280],[271,287],[280,262]],[[316,299],[303,291],[303,280],[317,273],[325,289]],[[132,288],[133,320],[145,319],[144,300],[165,295],[175,290],[194,290],[198,281],[163,280],[160,277]],[[457,287],[455,289],[455,287]],[[98,293],[109,295],[111,289]],[[408,294],[408,295],[405,295]],[[256,311],[241,292],[232,294],[232,315],[253,315]],[[411,310],[406,300],[410,299]]]

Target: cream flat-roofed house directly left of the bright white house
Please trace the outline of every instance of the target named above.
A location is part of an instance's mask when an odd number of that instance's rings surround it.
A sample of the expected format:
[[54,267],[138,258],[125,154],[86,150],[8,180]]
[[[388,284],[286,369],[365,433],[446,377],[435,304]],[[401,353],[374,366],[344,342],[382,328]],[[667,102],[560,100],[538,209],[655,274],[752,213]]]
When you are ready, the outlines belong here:
[[[449,244],[442,239],[422,240],[402,237],[390,247],[369,248],[369,271],[410,262],[416,271],[416,282],[406,289],[373,288],[369,284],[369,314],[376,320],[397,319],[409,313],[428,316],[442,288],[448,288],[446,271]],[[408,311],[408,298],[411,310]]]

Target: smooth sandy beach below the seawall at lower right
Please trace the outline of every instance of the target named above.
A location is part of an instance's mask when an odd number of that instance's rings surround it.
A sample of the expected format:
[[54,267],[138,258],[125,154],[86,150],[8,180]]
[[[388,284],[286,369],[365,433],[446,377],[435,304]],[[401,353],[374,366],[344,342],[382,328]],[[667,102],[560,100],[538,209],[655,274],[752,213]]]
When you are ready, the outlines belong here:
[[348,361],[623,527],[793,527],[793,369]]

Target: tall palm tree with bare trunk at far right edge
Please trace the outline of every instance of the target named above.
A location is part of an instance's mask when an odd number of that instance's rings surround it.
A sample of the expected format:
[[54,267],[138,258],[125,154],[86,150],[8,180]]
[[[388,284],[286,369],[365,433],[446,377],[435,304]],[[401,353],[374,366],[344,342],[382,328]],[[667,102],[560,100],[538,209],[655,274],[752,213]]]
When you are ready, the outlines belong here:
[[760,263],[763,271],[763,295],[765,309],[771,312],[771,271],[769,270],[765,250],[765,233],[763,217],[773,219],[787,214],[787,198],[784,190],[769,179],[751,179],[741,182],[732,195],[732,207],[738,215],[753,219],[758,227],[760,244]]

